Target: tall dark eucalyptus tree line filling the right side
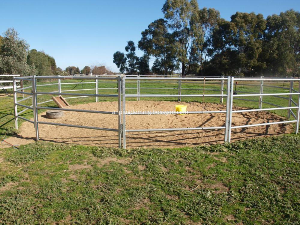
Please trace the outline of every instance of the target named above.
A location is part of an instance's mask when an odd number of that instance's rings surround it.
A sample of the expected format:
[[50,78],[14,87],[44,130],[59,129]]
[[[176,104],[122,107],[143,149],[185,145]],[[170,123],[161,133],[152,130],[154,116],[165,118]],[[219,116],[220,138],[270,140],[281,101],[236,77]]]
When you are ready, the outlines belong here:
[[[148,25],[137,47],[128,41],[126,54],[113,62],[122,73],[182,76],[298,76],[300,13],[287,10],[264,19],[262,14],[236,12],[230,21],[214,8],[199,9],[196,0],[167,0],[164,18]],[[152,68],[149,59],[153,58]]]

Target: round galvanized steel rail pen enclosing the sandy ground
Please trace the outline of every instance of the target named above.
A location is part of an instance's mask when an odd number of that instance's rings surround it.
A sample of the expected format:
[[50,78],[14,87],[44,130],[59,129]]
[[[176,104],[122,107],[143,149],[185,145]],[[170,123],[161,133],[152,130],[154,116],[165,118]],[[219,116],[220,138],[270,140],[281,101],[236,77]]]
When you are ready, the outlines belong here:
[[[51,84],[42,84],[37,85],[37,79],[57,79],[57,83]],[[82,82],[61,82],[61,79],[81,79]],[[32,82],[31,86],[25,88],[19,88],[17,82],[21,80],[26,80]],[[83,80],[95,80],[93,82],[83,82]],[[258,84],[250,84],[250,83],[239,83],[241,81],[247,82],[258,82]],[[283,81],[283,82],[290,82],[289,87],[281,87],[281,86],[274,86],[274,85],[265,85],[264,82],[274,82],[274,81]],[[28,77],[13,77],[13,97],[14,97],[14,111],[15,111],[15,128],[18,129],[18,119],[25,120],[27,122],[31,122],[34,124],[35,127],[35,134],[36,140],[39,140],[39,124],[47,124],[47,125],[58,125],[58,126],[67,126],[67,127],[75,127],[75,128],[86,128],[86,129],[95,129],[95,130],[102,130],[102,131],[113,131],[118,132],[118,146],[119,148],[126,148],[126,133],[128,132],[152,132],[152,131],[187,131],[187,130],[225,130],[224,132],[224,142],[230,143],[231,137],[231,130],[238,129],[238,128],[247,128],[247,127],[254,127],[254,126],[266,126],[266,125],[275,125],[275,124],[283,124],[283,123],[295,123],[295,133],[298,133],[299,127],[299,116],[300,116],[300,82],[298,86],[298,90],[293,89],[293,82],[300,81],[300,79],[294,78],[274,78],[274,77],[263,77],[260,78],[253,78],[253,77],[224,77],[224,76],[172,76],[172,77],[156,77],[156,76],[142,76],[142,75],[93,75],[93,76],[28,76]],[[155,87],[141,87],[143,83],[175,83],[178,85],[176,88],[155,88]],[[217,84],[220,85],[220,89],[214,88],[182,88],[182,84],[184,83],[209,83],[209,84]],[[116,83],[116,88],[99,88],[99,83]],[[126,87],[126,83],[136,83],[137,87]],[[61,90],[61,87],[64,84],[75,84],[76,86],[81,84],[95,84],[95,88],[87,88],[87,89],[71,89],[71,90]],[[50,86],[50,85],[58,85],[57,91],[51,92],[44,92],[44,91],[37,91],[37,87],[40,86]],[[244,85],[244,86],[256,86],[259,87],[259,93],[253,92],[245,92],[245,91],[234,91],[234,85]],[[75,86],[75,87],[76,87]],[[224,87],[226,87],[224,89]],[[83,86],[82,86],[83,87]],[[281,88],[286,89],[288,93],[263,93],[263,87],[273,87],[273,88]],[[30,92],[27,92],[26,89],[31,89]],[[117,89],[117,94],[99,94],[99,90],[105,89]],[[126,89],[137,89],[137,94],[126,94]],[[141,89],[178,89],[177,95],[169,95],[169,94],[141,94]],[[211,91],[220,91],[220,94],[189,94],[183,95],[182,90],[211,90]],[[90,91],[95,90],[95,94],[85,94],[85,93],[65,93],[69,91]],[[17,100],[17,94],[29,95],[26,98]],[[82,125],[71,125],[71,124],[61,124],[61,123],[52,123],[52,122],[42,122],[38,121],[38,110],[57,110],[57,108],[53,107],[42,107],[39,106],[41,104],[51,102],[53,100],[39,102],[38,103],[38,96],[39,95],[71,95],[74,97],[67,97],[67,98],[83,98],[83,97],[95,97],[95,101],[99,101],[99,97],[109,97],[109,98],[117,98],[118,101],[118,113],[116,112],[109,112],[109,111],[97,111],[97,110],[80,110],[80,109],[69,109],[69,108],[60,108],[59,110],[62,111],[72,111],[72,112],[83,112],[83,113],[99,113],[99,114],[110,114],[118,116],[118,129],[113,128],[99,128],[99,127],[90,127],[90,126],[82,126]],[[283,97],[283,96],[288,97]],[[298,101],[295,102],[292,100],[292,96],[297,95]],[[263,101],[263,96],[274,96],[276,98],[283,98],[288,100],[288,107],[282,107],[277,104],[269,103]],[[194,127],[194,128],[161,128],[161,129],[126,129],[126,115],[149,115],[149,113],[126,113],[126,98],[137,98],[137,101],[140,98],[161,98],[161,97],[176,97],[178,101],[181,101],[182,97],[218,97],[220,98],[220,102],[223,103],[223,100],[226,99],[226,110],[216,110],[216,111],[191,111],[187,112],[187,114],[194,114],[194,113],[225,113],[225,122],[224,126],[221,127]],[[251,100],[251,99],[244,99],[243,97],[259,97],[259,100]],[[20,102],[32,98],[32,105],[26,106],[24,104],[20,104]],[[232,110],[233,100],[244,100],[244,101],[255,101],[258,103],[258,109],[248,109],[248,110]],[[268,104],[275,106],[276,108],[262,108],[262,104]],[[292,106],[292,104],[294,106]],[[24,107],[25,109],[18,113],[17,107]],[[33,110],[33,121],[26,119],[19,114],[23,113],[26,110]],[[292,112],[292,109],[296,109],[296,115]],[[289,119],[292,115],[294,120],[286,120],[280,122],[268,122],[268,123],[261,123],[261,124],[250,124],[250,125],[240,125],[240,126],[232,126],[232,113],[244,113],[244,112],[259,112],[259,111],[270,111],[270,110],[287,110],[287,118]],[[122,113],[120,113],[122,112]],[[153,112],[150,115],[164,115],[164,112]],[[168,113],[170,114],[170,113]],[[171,114],[180,114],[180,112],[173,112]]]

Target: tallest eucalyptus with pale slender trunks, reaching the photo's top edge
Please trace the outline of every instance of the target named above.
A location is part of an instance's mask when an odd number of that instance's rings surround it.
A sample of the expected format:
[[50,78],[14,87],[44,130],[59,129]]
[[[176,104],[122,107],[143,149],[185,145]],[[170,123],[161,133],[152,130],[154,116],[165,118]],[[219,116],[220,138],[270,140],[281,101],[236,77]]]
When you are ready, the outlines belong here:
[[190,73],[202,33],[198,3],[196,0],[167,0],[162,12],[176,39],[176,58],[184,76]]

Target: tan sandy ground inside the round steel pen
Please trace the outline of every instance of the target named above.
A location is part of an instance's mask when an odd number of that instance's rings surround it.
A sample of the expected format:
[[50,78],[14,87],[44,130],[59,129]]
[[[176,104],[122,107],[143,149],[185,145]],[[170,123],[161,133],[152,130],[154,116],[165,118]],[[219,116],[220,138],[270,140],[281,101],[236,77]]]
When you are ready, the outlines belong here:
[[[126,110],[175,110],[172,101],[127,101]],[[201,103],[184,103],[188,111],[202,111]],[[117,102],[99,102],[71,106],[72,109],[114,111],[117,110]],[[233,107],[235,110],[243,109]],[[205,103],[204,111],[225,110],[221,104]],[[59,119],[47,119],[46,112],[39,114],[39,121],[65,123],[73,125],[85,125],[101,128],[118,129],[118,116],[95,113],[64,112]],[[232,126],[245,124],[259,124],[266,122],[283,121],[284,118],[269,112],[234,113]],[[202,127],[202,114],[186,115],[131,115],[126,116],[126,129],[146,128],[195,128]],[[203,115],[204,127],[224,126],[225,113]],[[99,131],[82,128],[70,128],[56,125],[39,125],[40,140],[53,143],[74,143],[80,145],[118,147],[118,133],[111,131]],[[168,132],[137,132],[126,133],[128,148],[133,147],[162,147],[174,148],[183,146],[195,146],[199,144],[223,143],[225,130],[202,131],[168,131]],[[269,125],[241,129],[232,129],[231,140],[268,136],[274,134],[292,133],[292,125]],[[23,122],[17,137],[6,139],[11,144],[20,145],[33,142],[35,129],[29,122]],[[2,145],[7,147],[7,145]]]

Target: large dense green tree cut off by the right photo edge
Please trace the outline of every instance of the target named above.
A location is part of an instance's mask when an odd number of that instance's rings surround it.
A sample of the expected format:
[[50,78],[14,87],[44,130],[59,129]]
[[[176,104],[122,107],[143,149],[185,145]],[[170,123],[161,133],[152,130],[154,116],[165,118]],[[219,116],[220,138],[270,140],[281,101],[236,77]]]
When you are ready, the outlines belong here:
[[300,73],[300,12],[287,10],[267,17],[262,61],[265,73],[296,76]]

